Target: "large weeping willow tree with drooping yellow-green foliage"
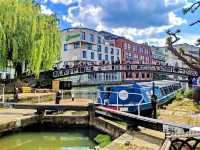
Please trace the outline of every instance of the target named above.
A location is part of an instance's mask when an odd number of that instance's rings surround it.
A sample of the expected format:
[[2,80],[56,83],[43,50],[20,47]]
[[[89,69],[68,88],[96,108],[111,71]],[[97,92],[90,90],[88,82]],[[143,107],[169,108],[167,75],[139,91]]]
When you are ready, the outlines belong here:
[[32,0],[0,0],[0,67],[11,62],[19,76],[22,64],[39,75],[60,56],[60,30],[54,15],[41,13]]

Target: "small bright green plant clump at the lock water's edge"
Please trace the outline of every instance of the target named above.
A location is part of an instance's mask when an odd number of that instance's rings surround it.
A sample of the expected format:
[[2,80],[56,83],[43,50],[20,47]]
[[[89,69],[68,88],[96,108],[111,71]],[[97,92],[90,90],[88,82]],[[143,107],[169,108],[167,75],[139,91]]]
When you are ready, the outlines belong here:
[[101,148],[111,143],[111,137],[109,135],[99,134],[94,139]]

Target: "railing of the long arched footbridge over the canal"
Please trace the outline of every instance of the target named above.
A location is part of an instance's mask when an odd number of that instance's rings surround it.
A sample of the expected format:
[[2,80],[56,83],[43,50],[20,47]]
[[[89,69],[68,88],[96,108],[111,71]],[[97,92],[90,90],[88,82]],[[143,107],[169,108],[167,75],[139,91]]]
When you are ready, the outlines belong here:
[[53,78],[71,76],[94,72],[125,72],[125,71],[150,71],[164,72],[168,74],[179,74],[183,76],[197,76],[197,72],[188,68],[179,68],[173,66],[162,66],[153,64],[120,64],[120,65],[94,65],[94,66],[77,66],[73,68],[62,68],[53,71]]

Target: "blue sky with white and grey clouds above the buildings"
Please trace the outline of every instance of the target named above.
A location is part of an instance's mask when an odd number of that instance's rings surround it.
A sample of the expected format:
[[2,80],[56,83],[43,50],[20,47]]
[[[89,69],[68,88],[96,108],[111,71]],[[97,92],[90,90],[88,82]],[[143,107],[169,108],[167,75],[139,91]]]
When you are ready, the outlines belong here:
[[179,43],[195,44],[200,25],[189,26],[200,16],[183,14],[197,0],[36,0],[42,13],[56,14],[60,28],[87,27],[108,31],[138,43],[165,46],[166,31],[180,29]]

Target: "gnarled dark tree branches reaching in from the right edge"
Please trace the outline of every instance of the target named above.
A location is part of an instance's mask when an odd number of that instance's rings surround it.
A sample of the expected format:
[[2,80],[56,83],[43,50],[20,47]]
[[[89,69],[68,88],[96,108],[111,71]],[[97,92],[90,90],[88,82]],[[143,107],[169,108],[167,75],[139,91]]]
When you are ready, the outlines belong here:
[[[200,1],[193,3],[191,6],[184,8],[183,13],[195,13],[197,9],[200,7]],[[196,20],[190,24],[190,26],[194,26],[200,23],[200,20]],[[191,69],[194,69],[200,75],[200,56],[192,55],[184,51],[184,49],[176,49],[174,48],[174,44],[180,40],[177,36],[181,31],[178,29],[175,32],[170,30],[167,31],[167,48],[170,50],[175,56],[177,56],[180,60],[182,60],[186,65],[188,65]],[[200,45],[200,39],[197,40],[197,46]]]

